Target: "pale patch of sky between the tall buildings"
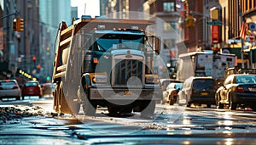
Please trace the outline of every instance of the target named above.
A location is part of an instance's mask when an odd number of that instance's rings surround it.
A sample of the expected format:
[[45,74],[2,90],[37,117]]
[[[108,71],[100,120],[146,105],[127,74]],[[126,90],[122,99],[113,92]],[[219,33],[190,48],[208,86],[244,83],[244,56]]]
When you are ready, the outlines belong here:
[[71,0],[71,5],[73,7],[78,7],[78,17],[81,17],[82,15],[91,15],[91,17],[95,17],[96,15],[100,15],[99,1],[100,0]]

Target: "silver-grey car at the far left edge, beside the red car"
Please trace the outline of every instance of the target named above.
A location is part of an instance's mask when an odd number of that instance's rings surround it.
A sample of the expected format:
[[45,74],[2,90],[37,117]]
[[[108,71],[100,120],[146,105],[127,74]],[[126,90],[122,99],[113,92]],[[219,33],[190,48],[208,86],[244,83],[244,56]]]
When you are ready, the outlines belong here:
[[9,100],[15,98],[20,100],[20,86],[16,80],[0,80],[0,98]]

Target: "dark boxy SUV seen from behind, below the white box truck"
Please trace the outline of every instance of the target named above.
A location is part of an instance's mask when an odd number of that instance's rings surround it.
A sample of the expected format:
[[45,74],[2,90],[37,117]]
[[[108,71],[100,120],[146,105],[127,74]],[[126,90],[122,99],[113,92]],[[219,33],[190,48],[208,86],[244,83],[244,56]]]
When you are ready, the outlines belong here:
[[187,104],[190,107],[194,104],[207,104],[210,108],[215,104],[216,85],[212,77],[190,76],[183,83],[183,88],[177,93],[178,103]]

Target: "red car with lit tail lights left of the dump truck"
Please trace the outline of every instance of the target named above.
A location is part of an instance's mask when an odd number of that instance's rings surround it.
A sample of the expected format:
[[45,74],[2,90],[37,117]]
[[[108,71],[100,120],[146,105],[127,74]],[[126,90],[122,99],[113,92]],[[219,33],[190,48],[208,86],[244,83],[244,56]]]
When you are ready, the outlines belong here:
[[26,81],[21,89],[22,99],[42,98],[42,88],[38,81]]

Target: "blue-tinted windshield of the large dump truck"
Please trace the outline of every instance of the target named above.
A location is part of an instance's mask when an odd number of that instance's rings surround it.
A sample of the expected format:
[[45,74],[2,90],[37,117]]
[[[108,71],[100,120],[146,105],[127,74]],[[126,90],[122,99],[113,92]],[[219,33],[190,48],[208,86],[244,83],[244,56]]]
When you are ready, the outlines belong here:
[[105,34],[96,38],[99,51],[109,49],[136,49],[142,50],[143,35]]

